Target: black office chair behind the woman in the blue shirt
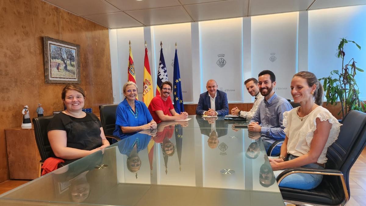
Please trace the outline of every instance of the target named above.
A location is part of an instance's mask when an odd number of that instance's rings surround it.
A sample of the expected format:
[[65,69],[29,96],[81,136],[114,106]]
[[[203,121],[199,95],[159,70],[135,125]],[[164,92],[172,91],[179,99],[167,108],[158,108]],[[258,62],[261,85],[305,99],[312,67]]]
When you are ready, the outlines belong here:
[[119,137],[113,135],[113,131],[116,129],[116,110],[118,104],[100,105],[100,121],[104,130],[104,135],[107,137],[110,144],[112,139],[119,141]]

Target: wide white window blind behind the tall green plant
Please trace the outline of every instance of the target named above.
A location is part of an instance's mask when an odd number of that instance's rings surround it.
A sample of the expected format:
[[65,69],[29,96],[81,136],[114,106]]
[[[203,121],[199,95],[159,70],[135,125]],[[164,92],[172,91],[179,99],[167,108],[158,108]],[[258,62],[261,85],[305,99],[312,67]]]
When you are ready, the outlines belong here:
[[[340,15],[341,14],[341,15]],[[340,38],[355,41],[361,51],[352,43],[344,48],[345,62],[354,58],[356,66],[366,69],[366,5],[329,8],[309,11],[309,71],[318,78],[327,77],[330,71],[342,68],[342,59],[335,55]],[[360,98],[366,99],[365,72],[358,72],[356,80]]]

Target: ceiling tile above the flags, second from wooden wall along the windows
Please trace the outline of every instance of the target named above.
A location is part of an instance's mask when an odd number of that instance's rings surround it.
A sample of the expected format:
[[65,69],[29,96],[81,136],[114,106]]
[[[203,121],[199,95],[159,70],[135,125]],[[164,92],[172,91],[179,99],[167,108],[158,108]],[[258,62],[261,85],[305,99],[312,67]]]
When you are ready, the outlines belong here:
[[192,21],[182,6],[126,11],[126,13],[146,26]]

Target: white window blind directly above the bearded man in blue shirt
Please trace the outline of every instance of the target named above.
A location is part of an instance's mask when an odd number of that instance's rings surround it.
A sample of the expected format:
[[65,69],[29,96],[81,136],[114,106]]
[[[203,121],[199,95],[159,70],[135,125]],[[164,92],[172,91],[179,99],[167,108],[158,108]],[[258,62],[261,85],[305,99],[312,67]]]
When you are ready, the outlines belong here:
[[297,71],[298,12],[251,17],[252,72],[276,75],[275,92],[291,98],[291,78]]

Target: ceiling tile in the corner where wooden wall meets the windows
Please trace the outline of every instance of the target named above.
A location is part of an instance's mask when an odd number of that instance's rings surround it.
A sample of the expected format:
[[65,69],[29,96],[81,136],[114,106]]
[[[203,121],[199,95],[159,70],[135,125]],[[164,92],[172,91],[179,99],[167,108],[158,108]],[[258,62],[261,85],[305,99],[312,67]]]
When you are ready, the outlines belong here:
[[109,14],[86,15],[84,17],[100,23],[101,25],[107,26],[111,29],[143,26],[143,24],[131,18],[131,16],[128,16],[122,11]]

